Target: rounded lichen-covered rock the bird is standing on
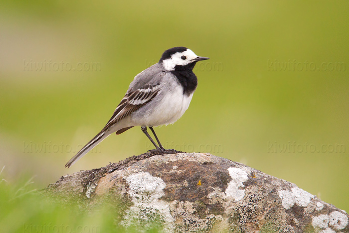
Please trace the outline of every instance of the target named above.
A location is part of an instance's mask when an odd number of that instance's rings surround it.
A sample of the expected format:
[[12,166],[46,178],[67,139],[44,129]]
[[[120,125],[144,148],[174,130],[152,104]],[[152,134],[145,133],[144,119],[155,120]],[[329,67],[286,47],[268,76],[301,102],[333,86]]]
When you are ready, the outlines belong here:
[[295,184],[200,153],[143,154],[60,178],[44,191],[88,210],[107,197],[125,228],[164,232],[349,232],[349,216]]

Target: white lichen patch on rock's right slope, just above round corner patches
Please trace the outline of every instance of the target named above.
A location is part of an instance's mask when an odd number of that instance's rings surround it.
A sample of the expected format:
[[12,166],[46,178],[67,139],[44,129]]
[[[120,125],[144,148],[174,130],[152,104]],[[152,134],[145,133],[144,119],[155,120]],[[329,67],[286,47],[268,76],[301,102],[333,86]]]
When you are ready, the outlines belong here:
[[282,206],[288,210],[297,204],[301,207],[307,207],[311,202],[314,195],[296,187],[289,190],[279,190],[278,195],[282,201]]

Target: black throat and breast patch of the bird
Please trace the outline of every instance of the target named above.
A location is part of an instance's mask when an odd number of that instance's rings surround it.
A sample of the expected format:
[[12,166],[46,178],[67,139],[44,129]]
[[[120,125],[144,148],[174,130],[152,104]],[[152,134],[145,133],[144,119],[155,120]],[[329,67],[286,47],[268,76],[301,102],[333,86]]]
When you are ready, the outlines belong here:
[[183,87],[183,94],[189,96],[197,87],[197,78],[192,69],[194,68],[196,61],[187,65],[176,65],[174,70],[170,71],[179,81]]

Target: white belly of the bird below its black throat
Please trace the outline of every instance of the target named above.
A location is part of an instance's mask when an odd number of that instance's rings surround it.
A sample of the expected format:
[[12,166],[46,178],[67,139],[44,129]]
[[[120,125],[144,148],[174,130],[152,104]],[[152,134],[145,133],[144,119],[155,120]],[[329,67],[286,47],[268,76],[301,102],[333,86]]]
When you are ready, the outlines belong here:
[[141,126],[173,124],[188,109],[193,93],[183,95],[183,88],[176,86],[169,93],[159,93],[148,106],[132,114],[132,121]]

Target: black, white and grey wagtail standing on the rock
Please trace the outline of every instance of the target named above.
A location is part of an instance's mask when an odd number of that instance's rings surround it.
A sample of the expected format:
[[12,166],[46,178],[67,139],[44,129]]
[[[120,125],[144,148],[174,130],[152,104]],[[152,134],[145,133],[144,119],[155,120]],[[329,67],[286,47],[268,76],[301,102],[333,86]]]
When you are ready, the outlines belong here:
[[[121,134],[134,126],[141,126],[160,154],[176,153],[161,145],[153,127],[173,124],[183,115],[197,86],[192,69],[197,61],[207,59],[195,55],[186,47],[166,50],[159,63],[136,75],[106,126],[65,167],[69,168],[76,163],[110,134]],[[159,146],[148,134],[147,126]]]

